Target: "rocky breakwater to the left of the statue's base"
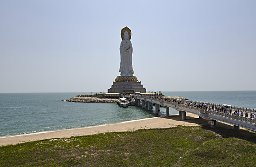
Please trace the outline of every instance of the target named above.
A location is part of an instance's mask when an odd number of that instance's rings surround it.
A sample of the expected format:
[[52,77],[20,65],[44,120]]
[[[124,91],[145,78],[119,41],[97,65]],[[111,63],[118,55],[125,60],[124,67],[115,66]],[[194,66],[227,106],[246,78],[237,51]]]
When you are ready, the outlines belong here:
[[67,99],[66,102],[78,103],[117,103],[118,99],[104,98],[104,97],[90,97],[90,96],[75,96]]

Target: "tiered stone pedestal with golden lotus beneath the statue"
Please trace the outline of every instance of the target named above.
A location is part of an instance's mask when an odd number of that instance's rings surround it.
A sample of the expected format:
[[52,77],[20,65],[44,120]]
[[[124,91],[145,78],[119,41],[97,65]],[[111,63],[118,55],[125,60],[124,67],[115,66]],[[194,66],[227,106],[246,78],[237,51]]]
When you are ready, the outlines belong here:
[[138,82],[135,76],[116,77],[115,82],[113,82],[111,88],[108,89],[108,93],[131,94],[135,92],[146,92],[146,89],[143,88],[143,85],[141,82]]

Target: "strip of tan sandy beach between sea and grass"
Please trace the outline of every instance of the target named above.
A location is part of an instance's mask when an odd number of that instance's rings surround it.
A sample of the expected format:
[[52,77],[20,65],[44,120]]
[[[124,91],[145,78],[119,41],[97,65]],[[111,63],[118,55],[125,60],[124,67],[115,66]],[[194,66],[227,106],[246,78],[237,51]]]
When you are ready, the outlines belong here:
[[[28,134],[28,135],[18,135],[11,137],[0,138],[0,146],[17,144],[26,141],[37,141],[52,138],[63,138],[71,136],[81,136],[81,135],[93,135],[105,132],[124,132],[132,131],[138,129],[149,129],[149,128],[171,128],[177,125],[184,126],[200,126],[202,124],[208,124],[207,120],[199,119],[198,116],[194,114],[187,114],[187,119],[182,121],[180,116],[169,116],[169,117],[153,117],[142,120],[135,120],[129,122],[121,122],[103,126],[88,127],[88,128],[77,128],[77,129],[67,129],[52,132],[45,132],[39,134]],[[217,122],[217,126],[226,126],[230,128],[231,126]]]

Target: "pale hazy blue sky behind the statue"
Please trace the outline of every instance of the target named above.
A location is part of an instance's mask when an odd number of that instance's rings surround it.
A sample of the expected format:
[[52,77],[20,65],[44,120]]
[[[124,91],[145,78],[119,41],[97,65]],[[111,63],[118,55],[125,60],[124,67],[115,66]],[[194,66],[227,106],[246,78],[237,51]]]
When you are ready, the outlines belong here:
[[0,0],[0,92],[106,92],[125,26],[147,91],[256,90],[256,0]]

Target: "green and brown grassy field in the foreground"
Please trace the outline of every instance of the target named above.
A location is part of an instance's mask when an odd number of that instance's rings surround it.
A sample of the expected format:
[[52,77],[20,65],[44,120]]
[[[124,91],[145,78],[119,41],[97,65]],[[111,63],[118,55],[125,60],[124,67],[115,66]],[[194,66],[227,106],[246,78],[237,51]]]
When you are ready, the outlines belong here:
[[0,166],[255,167],[256,134],[178,126],[33,141],[0,147]]

